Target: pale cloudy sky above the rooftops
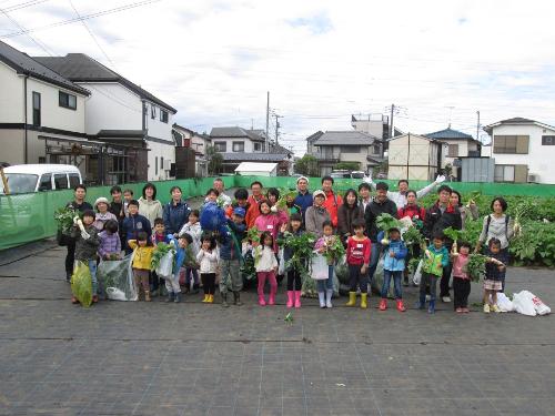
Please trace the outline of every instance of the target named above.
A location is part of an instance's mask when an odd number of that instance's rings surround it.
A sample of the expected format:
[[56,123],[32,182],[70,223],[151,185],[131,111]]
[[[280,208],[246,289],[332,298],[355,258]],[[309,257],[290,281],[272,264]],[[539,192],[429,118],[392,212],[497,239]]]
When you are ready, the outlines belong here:
[[483,125],[555,124],[552,1],[0,0],[0,9],[1,40],[30,55],[87,53],[200,132],[265,129],[270,91],[280,143],[299,155],[313,132],[350,130],[351,114],[392,103],[395,126],[413,133],[451,120],[475,136],[476,110]]

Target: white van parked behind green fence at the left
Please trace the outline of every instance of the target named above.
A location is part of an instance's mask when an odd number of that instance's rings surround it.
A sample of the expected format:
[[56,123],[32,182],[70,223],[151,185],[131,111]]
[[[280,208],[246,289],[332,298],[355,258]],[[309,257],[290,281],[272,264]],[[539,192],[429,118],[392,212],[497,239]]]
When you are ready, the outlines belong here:
[[[3,169],[10,194],[69,190],[83,183],[81,172],[71,164],[18,164]],[[4,194],[0,181],[0,194]]]

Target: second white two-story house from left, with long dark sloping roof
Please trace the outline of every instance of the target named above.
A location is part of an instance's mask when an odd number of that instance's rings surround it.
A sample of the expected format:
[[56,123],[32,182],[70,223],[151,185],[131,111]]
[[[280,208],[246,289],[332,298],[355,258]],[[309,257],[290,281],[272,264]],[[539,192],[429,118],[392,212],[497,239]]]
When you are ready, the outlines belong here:
[[174,108],[87,54],[33,59],[91,92],[84,108],[89,138],[149,150],[137,180],[170,177]]

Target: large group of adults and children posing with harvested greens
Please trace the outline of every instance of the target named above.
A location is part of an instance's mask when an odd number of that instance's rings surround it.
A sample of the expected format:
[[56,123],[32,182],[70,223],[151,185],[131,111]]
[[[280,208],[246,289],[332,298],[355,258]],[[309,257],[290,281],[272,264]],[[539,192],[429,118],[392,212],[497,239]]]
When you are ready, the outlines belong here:
[[[279,241],[310,233],[315,236],[314,251],[327,254],[327,278],[319,280],[316,285],[321,307],[332,307],[335,266],[345,261],[350,286],[346,305],[355,306],[360,293],[360,307],[367,308],[369,283],[380,258],[383,258],[384,280],[379,310],[387,308],[387,292],[393,281],[396,308],[404,312],[402,283],[408,284],[407,264],[413,255],[422,257],[417,307],[425,308],[427,303],[427,311],[435,312],[440,281],[440,298],[451,302],[452,286],[454,310],[466,313],[471,281],[465,266],[472,251],[471,242],[454,242],[443,231],[448,227],[463,230],[466,221],[478,219],[478,212],[472,201],[465,205],[461,194],[443,182],[444,177],[438,176],[426,187],[414,191],[408,181],[402,180],[394,192],[385,182],[374,183],[369,176],[356,190],[350,189],[344,195],[339,195],[331,176],[322,177],[321,189],[312,193],[309,179],[301,176],[296,180],[295,195],[287,194],[286,203],[280,204],[280,196],[283,196],[280,191],[270,187],[264,192],[259,181],[251,184],[250,192],[242,187],[235,190],[232,201],[224,193],[223,181],[215,179],[200,210],[191,210],[179,186],[171,189],[171,199],[164,204],[157,200],[157,186],[152,183],[143,186],[138,200],[131,190],[113,186],[111,201],[99,197],[91,206],[85,202],[87,189],[78,185],[74,201],[68,206],[81,212],[82,224],[75,221],[72,240],[68,243],[67,278],[70,280],[75,261],[87,263],[92,276],[93,302],[98,302],[98,262],[120,260],[123,253],[133,253],[135,284],[147,302],[153,295],[162,294],[165,287],[168,302],[179,303],[183,292],[198,293],[202,286],[202,302],[212,303],[219,283],[222,305],[231,303],[228,302],[230,290],[233,304],[241,305],[241,266],[245,254],[251,253],[258,277],[259,304],[275,304],[279,265],[285,262],[286,306],[301,307],[302,273],[290,262],[292,250],[280,247]],[[435,187],[436,202],[427,209],[420,206],[418,199]],[[485,244],[488,255],[484,281],[486,313],[498,312],[495,296],[504,291],[508,244],[514,233],[512,219],[505,214],[505,200],[495,197],[491,207],[492,213],[484,217],[482,234],[474,247],[477,252]],[[202,217],[209,214],[224,219],[224,226],[206,225],[210,221]],[[417,227],[426,239],[426,246],[407,247],[402,237],[403,230],[397,226],[380,230],[377,220],[382,214]],[[254,229],[256,235],[252,232]],[[163,276],[151,270],[152,255],[160,242],[172,244],[175,250],[172,271]],[[344,260],[330,255],[337,242],[346,250]],[[164,286],[161,281],[164,281]],[[266,283],[270,286],[268,297],[264,294]],[[72,301],[78,302],[77,298]]]

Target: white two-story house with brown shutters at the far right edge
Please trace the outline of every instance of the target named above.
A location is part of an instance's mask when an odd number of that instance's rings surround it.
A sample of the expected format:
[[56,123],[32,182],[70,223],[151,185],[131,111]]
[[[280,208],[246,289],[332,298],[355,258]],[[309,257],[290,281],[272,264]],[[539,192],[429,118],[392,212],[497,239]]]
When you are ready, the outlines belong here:
[[495,182],[555,184],[555,126],[514,118],[484,126],[492,138]]

